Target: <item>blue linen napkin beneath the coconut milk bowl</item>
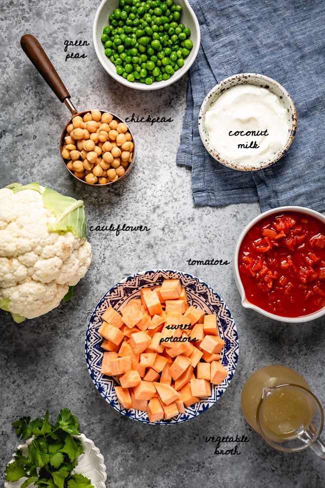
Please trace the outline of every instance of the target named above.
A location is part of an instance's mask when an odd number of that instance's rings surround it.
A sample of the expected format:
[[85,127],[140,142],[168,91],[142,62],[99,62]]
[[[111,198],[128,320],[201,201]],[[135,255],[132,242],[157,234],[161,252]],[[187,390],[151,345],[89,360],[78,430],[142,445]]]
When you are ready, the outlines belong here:
[[[190,0],[201,45],[189,72],[177,165],[191,167],[195,205],[259,201],[325,210],[324,39],[322,0]],[[266,169],[231,170],[205,150],[197,119],[206,94],[237,73],[260,73],[288,91],[298,116],[287,152]]]

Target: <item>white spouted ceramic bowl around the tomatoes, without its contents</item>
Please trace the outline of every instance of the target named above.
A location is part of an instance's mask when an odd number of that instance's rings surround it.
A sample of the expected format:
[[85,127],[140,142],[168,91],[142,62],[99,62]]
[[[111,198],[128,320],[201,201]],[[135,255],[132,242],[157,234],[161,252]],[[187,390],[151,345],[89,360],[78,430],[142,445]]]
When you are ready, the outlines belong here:
[[241,305],[244,308],[251,308],[252,310],[255,310],[256,312],[260,313],[261,315],[264,315],[265,317],[271,318],[273,320],[277,320],[279,322],[289,322],[289,323],[301,323],[301,322],[309,322],[310,320],[315,320],[316,318],[321,317],[322,315],[325,315],[325,307],[322,307],[320,310],[317,310],[314,313],[310,313],[309,315],[302,315],[300,317],[285,317],[281,315],[275,315],[273,313],[267,312],[266,310],[263,310],[262,308],[258,307],[257,305],[254,305],[253,303],[250,303],[245,296],[245,290],[242,285],[240,275],[239,275],[239,269],[238,269],[238,255],[239,255],[239,248],[242,243],[243,238],[253,227],[257,222],[260,222],[263,220],[267,215],[272,215],[276,213],[283,213],[283,212],[299,212],[302,214],[310,215],[311,217],[316,218],[317,220],[320,220],[325,224],[325,216],[320,214],[319,212],[316,212],[315,210],[311,210],[309,208],[305,207],[298,207],[298,206],[288,206],[288,207],[277,207],[271,210],[268,210],[267,212],[263,212],[262,214],[258,215],[255,217],[251,222],[249,222],[248,225],[243,229],[241,234],[238,237],[234,253],[233,253],[233,274],[234,274],[234,280],[236,283],[236,286],[238,288],[238,291],[241,296]]

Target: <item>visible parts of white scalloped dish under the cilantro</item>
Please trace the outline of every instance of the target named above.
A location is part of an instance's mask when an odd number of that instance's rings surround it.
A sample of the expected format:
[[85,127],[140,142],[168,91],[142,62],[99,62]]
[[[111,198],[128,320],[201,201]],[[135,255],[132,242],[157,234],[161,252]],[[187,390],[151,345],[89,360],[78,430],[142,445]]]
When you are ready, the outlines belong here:
[[[78,464],[72,472],[82,474],[90,479],[95,488],[105,488],[106,484],[106,466],[104,464],[104,458],[100,454],[98,447],[96,447],[91,439],[87,439],[84,434],[76,436],[81,441],[84,453],[80,454],[77,458]],[[31,443],[32,438],[26,440],[24,444],[18,445],[18,449],[22,450],[22,453],[27,455],[28,445]],[[13,458],[9,462],[13,462]],[[18,481],[4,482],[4,488],[20,488],[23,481],[27,479],[25,477],[20,478]],[[28,488],[37,488],[35,484],[30,484]]]

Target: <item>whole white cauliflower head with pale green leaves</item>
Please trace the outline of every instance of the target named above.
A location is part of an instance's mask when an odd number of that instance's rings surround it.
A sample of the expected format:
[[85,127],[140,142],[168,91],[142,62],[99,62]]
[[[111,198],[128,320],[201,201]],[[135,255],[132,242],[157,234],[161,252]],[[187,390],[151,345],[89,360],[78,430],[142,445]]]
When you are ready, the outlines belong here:
[[38,183],[0,189],[0,308],[16,322],[57,307],[86,274],[83,202]]

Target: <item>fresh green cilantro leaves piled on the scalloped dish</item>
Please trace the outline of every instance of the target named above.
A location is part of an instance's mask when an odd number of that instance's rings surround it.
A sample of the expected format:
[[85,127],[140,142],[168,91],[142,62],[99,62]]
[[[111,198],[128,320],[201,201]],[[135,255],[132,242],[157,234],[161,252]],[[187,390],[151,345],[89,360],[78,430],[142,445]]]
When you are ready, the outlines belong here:
[[21,488],[35,484],[38,488],[93,488],[90,480],[81,474],[71,474],[77,465],[77,457],[82,454],[79,421],[68,408],[57,415],[54,425],[49,422],[49,412],[44,418],[22,417],[12,423],[21,439],[32,436],[28,453],[17,449],[13,462],[5,470],[7,481],[18,481],[26,477]]

